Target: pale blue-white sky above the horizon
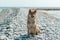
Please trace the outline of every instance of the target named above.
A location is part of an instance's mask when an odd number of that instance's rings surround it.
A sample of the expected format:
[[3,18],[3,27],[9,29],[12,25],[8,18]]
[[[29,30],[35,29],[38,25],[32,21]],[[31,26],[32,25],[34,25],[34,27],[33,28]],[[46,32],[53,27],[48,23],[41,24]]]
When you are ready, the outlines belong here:
[[60,7],[60,0],[0,0],[0,7]]

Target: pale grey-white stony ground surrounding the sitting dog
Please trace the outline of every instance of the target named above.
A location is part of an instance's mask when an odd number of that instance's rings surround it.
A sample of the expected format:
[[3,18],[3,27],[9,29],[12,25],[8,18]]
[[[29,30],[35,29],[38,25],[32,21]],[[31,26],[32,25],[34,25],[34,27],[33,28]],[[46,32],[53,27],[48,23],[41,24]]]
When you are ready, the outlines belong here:
[[44,10],[36,13],[42,34],[28,38],[28,11],[26,8],[0,8],[0,40],[60,40],[60,18]]

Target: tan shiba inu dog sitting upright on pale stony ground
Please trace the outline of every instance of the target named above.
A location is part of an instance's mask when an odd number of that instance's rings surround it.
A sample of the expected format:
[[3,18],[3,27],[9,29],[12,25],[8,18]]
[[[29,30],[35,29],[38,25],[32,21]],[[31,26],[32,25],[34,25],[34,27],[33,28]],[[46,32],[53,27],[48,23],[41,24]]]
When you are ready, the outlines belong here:
[[31,34],[32,36],[37,35],[41,32],[39,27],[36,26],[36,10],[30,9],[27,19],[27,29],[28,29],[28,36]]

